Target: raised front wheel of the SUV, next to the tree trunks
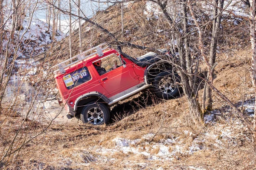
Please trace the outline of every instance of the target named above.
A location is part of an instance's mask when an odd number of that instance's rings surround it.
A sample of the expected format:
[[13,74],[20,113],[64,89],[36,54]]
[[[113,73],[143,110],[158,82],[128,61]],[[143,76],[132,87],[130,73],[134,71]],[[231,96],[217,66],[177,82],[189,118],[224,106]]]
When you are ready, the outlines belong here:
[[172,99],[180,95],[180,76],[177,73],[163,72],[152,82],[155,95],[161,99]]

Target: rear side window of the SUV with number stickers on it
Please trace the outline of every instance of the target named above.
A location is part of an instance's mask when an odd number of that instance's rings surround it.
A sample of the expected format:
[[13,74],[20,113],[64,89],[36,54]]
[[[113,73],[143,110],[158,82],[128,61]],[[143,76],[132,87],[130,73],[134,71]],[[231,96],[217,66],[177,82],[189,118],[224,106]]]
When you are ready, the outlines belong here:
[[91,79],[87,67],[79,68],[78,70],[67,74],[63,77],[64,83],[68,90],[83,84]]

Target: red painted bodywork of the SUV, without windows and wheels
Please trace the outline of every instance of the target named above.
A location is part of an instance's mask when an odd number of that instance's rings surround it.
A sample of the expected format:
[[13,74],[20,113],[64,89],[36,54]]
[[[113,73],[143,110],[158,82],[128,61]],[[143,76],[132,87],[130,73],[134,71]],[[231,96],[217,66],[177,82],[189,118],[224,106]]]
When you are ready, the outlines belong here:
[[[93,66],[93,61],[113,53],[118,55],[117,51],[113,49],[104,51],[104,55],[102,57],[95,55],[84,59],[75,65],[66,68],[65,74],[55,75],[55,81],[61,94],[63,103],[65,104],[67,102],[65,105],[67,111],[70,111],[70,108],[73,109],[74,103],[79,96],[88,92],[97,91],[110,98],[115,94],[133,87],[134,85],[144,82],[145,68],[141,68],[140,66],[134,64],[134,62],[131,62],[129,59],[124,57],[122,57],[122,59],[125,61],[126,67],[121,65],[118,68],[100,76],[96,71],[96,68]],[[87,71],[90,74],[91,79],[69,90],[66,87],[63,77],[77,71],[80,68],[84,68],[84,66],[87,67]]]

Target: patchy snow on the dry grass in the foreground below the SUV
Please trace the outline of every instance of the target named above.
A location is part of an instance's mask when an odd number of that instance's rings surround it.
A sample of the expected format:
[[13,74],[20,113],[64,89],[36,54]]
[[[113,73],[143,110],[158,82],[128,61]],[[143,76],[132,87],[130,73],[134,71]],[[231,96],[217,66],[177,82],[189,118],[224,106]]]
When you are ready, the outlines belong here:
[[[247,127],[242,125],[239,121],[232,122],[232,126],[215,123],[213,128],[215,128],[215,130],[209,130],[209,132],[201,134],[193,134],[189,130],[184,130],[184,132],[179,133],[179,135],[176,133],[176,137],[160,139],[159,142],[151,142],[151,139],[157,136],[155,133],[147,133],[138,139],[127,139],[119,135],[113,137],[113,139],[108,142],[113,143],[113,145],[111,145],[112,147],[94,145],[82,149],[83,151],[80,151],[80,153],[82,154],[85,151],[88,153],[97,153],[94,156],[89,156],[94,157],[94,159],[92,162],[85,161],[84,165],[86,166],[90,166],[91,163],[101,164],[106,161],[118,161],[120,164],[127,164],[127,168],[129,165],[137,164],[143,169],[159,162],[175,162],[180,159],[180,156],[199,154],[199,152],[204,153],[207,152],[207,150],[212,150],[212,146],[219,148],[223,144],[230,144],[236,147],[239,146],[239,139],[250,141],[250,139],[244,137],[246,135],[242,133]],[[237,130],[239,130],[240,133],[237,133]],[[170,136],[170,134],[167,136]],[[120,159],[120,156],[122,158],[132,156],[136,159],[132,161]],[[72,161],[72,158],[70,158],[68,162],[70,161]],[[193,166],[189,168],[198,169],[198,167]]]

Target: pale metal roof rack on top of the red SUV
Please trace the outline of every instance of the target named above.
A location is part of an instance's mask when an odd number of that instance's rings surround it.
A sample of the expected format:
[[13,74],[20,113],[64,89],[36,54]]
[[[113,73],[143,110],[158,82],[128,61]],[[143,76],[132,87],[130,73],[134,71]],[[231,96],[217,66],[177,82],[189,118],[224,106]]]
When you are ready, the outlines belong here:
[[[105,49],[107,49],[108,47],[102,48],[102,46],[103,46],[103,45],[106,45],[106,44],[107,44],[107,43],[104,42],[103,44],[98,45],[98,46],[96,46],[96,47],[93,47],[93,48],[91,48],[90,50],[84,51],[84,52],[82,52],[81,54],[76,55],[75,57],[72,57],[72,58],[70,58],[70,59],[67,59],[67,60],[64,61],[64,62],[61,62],[61,63],[59,63],[59,64],[57,64],[57,65],[54,65],[52,68],[58,67],[58,70],[55,70],[53,73],[56,73],[56,72],[60,71],[61,74],[64,74],[64,73],[66,73],[65,68],[69,67],[70,65],[76,64],[77,62],[79,62],[79,61],[81,61],[81,60],[83,60],[83,59],[86,59],[86,58],[88,58],[88,57],[91,57],[91,56],[93,56],[93,55],[95,55],[95,54],[98,54],[99,57],[103,56],[103,51],[104,51]],[[85,56],[85,54],[87,54],[88,52],[93,51],[93,50],[95,50],[95,49],[97,50],[96,52],[94,52],[94,53],[92,53],[92,54],[90,54],[90,55]],[[70,61],[72,61],[73,59],[76,59],[76,58],[77,58],[76,61],[74,61],[74,62],[72,62],[72,63],[66,65],[67,62],[70,62]]]

